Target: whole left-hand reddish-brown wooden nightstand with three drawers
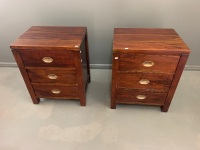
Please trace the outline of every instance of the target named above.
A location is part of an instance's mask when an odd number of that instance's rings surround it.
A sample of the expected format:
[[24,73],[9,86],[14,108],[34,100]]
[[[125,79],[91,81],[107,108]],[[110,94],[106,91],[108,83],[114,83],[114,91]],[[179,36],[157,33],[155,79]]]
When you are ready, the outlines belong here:
[[90,68],[85,27],[34,26],[10,47],[33,103],[54,98],[86,105]]

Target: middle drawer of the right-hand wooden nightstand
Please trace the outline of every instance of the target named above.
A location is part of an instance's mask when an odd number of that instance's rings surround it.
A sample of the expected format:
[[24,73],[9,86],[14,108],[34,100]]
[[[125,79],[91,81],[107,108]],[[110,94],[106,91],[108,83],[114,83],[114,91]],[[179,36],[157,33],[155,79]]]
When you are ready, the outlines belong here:
[[118,74],[117,87],[168,92],[172,79],[173,74],[121,72]]

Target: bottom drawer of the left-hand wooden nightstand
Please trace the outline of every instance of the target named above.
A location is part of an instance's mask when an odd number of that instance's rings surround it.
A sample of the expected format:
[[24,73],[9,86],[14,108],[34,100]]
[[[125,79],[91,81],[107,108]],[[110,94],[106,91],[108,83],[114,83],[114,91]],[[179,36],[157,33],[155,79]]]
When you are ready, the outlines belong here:
[[77,86],[45,85],[33,84],[36,97],[38,98],[60,98],[60,99],[78,99]]

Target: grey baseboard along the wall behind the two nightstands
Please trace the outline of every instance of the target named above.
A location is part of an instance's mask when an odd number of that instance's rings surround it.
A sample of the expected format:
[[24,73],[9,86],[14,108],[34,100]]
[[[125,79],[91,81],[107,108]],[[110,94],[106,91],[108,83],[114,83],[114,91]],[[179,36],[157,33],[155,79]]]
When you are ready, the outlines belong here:
[[[0,67],[17,67],[16,63],[0,62]],[[91,69],[111,69],[112,64],[90,64]],[[186,65],[184,70],[200,71],[200,66]]]

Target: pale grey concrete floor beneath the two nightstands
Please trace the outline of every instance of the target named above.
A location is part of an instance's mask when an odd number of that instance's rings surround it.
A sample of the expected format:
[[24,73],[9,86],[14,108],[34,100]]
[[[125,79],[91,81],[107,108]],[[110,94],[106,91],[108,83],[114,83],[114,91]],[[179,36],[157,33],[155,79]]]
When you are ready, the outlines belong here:
[[0,68],[1,150],[200,150],[200,72],[184,71],[168,113],[110,109],[111,70],[92,69],[87,106],[32,104],[18,68]]

